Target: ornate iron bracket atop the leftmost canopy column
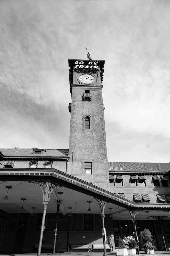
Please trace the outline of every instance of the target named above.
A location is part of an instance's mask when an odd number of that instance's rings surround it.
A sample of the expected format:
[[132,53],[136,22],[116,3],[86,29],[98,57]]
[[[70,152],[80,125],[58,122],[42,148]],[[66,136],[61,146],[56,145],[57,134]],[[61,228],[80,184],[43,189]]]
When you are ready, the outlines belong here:
[[51,192],[58,187],[58,184],[55,184],[50,181],[28,181],[29,183],[34,183],[38,185],[43,192],[43,202],[49,202]]

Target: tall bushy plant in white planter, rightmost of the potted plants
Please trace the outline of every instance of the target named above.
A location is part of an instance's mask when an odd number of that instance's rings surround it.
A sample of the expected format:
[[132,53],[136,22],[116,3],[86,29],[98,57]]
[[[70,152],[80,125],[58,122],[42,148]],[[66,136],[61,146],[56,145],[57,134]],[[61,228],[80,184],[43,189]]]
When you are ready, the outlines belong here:
[[156,247],[150,241],[153,241],[152,234],[149,229],[143,229],[140,232],[140,238],[143,241],[143,247],[146,254],[155,254]]

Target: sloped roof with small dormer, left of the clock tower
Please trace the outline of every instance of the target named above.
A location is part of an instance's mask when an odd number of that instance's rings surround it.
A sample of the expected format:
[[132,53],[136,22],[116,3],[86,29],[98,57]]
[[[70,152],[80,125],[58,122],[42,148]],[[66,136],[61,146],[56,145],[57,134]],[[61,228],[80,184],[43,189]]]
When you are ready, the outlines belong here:
[[[67,157],[68,158],[68,149],[43,149],[45,152],[42,155],[33,154],[34,149],[28,148],[2,148],[0,149],[0,154],[3,157]],[[35,150],[42,150],[36,148]]]

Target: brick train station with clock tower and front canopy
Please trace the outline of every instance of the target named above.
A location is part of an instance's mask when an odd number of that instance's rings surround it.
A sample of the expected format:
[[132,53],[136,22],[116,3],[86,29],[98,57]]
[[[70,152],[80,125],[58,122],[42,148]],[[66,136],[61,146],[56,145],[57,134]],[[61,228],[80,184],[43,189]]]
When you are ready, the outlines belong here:
[[69,149],[0,149],[1,253],[40,255],[54,237],[56,252],[103,243],[115,250],[116,235],[137,240],[143,228],[157,249],[169,248],[170,164],[107,160],[104,63],[69,60]]

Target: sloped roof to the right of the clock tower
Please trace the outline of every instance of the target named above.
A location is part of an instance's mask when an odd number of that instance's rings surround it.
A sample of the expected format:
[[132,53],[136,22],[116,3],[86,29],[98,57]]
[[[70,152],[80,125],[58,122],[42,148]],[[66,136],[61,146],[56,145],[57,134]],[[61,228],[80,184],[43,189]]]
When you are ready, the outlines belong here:
[[149,173],[149,172],[168,172],[170,163],[135,163],[135,162],[108,162],[109,172],[121,173]]

